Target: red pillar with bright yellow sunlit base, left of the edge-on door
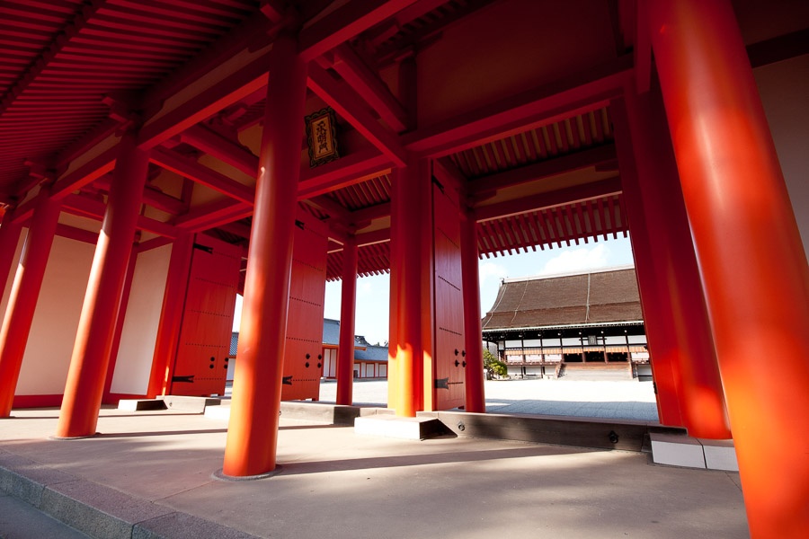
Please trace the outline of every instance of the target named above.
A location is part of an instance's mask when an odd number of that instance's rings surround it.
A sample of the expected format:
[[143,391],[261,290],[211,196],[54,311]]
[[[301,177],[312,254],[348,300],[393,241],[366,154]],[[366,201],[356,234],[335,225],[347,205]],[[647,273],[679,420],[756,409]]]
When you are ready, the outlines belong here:
[[430,163],[412,159],[396,169],[393,188],[390,289],[396,331],[391,335],[395,360],[388,370],[387,402],[397,416],[415,417],[424,409],[424,393],[431,391],[424,377],[424,364],[432,361]]

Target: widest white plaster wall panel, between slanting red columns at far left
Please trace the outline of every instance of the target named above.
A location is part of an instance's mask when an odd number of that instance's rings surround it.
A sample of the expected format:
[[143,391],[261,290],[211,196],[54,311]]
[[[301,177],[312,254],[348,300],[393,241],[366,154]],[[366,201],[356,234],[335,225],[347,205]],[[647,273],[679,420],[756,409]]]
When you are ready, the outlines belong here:
[[94,252],[95,245],[90,243],[60,236],[54,238],[28,345],[22,356],[16,394],[65,393],[67,368],[76,342]]

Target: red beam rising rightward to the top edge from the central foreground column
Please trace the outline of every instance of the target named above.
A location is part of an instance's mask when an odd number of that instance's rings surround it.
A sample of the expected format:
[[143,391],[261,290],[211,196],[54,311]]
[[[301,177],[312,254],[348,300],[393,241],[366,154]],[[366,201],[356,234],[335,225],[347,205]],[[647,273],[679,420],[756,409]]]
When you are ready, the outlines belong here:
[[300,32],[298,52],[304,60],[319,57],[416,1],[366,0],[343,4]]

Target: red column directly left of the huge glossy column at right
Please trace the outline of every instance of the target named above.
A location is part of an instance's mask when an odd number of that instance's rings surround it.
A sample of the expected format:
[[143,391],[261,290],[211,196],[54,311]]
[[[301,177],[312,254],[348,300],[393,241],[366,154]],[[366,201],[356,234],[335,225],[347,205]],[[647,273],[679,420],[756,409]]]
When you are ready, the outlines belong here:
[[617,116],[630,124],[631,133],[625,132],[623,138],[634,149],[637,168],[636,175],[622,175],[624,190],[637,190],[645,209],[651,262],[661,292],[656,307],[665,313],[676,338],[671,351],[679,366],[683,422],[693,437],[729,438],[725,393],[659,87],[654,84],[641,96],[628,91],[626,105],[613,107],[617,128],[622,123]]

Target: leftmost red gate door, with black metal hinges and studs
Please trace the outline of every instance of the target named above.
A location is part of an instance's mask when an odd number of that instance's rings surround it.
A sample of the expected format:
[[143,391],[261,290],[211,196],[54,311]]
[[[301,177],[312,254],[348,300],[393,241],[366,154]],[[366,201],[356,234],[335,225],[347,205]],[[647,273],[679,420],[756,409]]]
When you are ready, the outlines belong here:
[[225,394],[241,249],[197,234],[169,394]]

